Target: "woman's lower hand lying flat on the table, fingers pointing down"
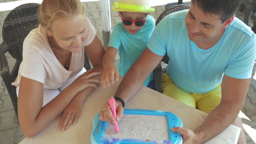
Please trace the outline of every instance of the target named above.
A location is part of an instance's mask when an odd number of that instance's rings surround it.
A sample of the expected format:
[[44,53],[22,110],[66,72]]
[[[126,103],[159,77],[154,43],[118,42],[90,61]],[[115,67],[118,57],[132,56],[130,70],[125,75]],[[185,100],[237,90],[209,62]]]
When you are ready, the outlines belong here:
[[70,103],[67,105],[62,113],[60,130],[67,130],[72,123],[73,125],[77,124],[79,115],[83,109],[83,104],[83,100],[76,98],[70,101]]

